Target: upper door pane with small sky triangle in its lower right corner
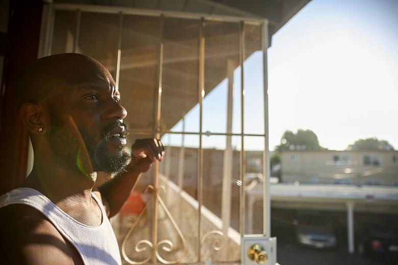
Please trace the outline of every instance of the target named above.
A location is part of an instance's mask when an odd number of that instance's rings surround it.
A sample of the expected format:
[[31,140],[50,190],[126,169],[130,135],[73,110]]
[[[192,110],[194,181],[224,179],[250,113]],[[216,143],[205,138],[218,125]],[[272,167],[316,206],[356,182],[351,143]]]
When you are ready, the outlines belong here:
[[[165,18],[162,129],[199,132],[199,20]],[[176,126],[181,121],[181,125]]]

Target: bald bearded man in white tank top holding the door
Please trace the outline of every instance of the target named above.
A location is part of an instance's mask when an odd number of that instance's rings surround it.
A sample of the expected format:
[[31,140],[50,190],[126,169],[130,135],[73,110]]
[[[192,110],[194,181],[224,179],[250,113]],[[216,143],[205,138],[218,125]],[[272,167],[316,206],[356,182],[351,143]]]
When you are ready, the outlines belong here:
[[[108,217],[139,175],[161,161],[160,140],[126,151],[126,109],[109,71],[80,54],[33,62],[18,85],[34,166],[0,197],[2,264],[121,264]],[[12,131],[12,130],[11,130]],[[116,176],[98,189],[97,172]]]

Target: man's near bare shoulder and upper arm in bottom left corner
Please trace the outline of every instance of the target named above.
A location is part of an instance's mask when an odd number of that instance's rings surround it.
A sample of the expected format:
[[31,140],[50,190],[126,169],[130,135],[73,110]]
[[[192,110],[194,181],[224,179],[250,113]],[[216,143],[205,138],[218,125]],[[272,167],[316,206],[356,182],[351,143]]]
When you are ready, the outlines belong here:
[[54,225],[27,205],[0,208],[0,238],[5,264],[82,264]]

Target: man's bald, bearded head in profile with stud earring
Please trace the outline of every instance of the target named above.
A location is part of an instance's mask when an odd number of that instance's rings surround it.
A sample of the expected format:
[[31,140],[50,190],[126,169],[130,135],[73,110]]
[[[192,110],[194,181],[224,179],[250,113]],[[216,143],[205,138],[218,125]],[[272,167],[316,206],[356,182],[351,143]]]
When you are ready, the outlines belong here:
[[18,84],[21,117],[35,155],[52,155],[57,166],[88,175],[127,165],[127,112],[109,71],[80,54],[33,62]]

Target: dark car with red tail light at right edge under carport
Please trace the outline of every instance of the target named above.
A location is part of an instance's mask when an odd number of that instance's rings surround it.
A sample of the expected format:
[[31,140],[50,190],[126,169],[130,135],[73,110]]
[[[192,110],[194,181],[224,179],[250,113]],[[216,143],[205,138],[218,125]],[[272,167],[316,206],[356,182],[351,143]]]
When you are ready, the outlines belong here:
[[358,252],[364,256],[394,256],[398,258],[398,230],[372,228],[362,238]]

